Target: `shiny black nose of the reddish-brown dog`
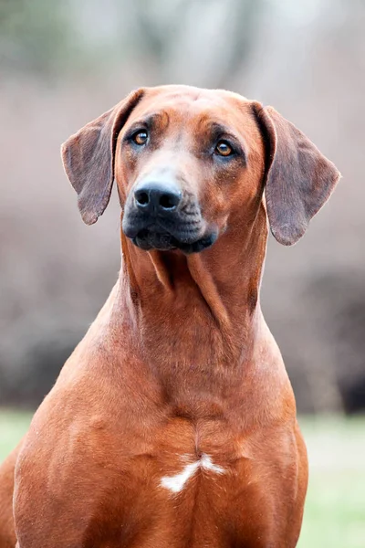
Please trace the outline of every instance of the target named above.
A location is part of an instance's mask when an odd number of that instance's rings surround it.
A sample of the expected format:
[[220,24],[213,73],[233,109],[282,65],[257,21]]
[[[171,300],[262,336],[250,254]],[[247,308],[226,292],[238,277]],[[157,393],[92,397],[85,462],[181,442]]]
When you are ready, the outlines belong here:
[[134,191],[137,207],[143,211],[164,214],[174,211],[180,204],[182,193],[175,184],[141,183]]

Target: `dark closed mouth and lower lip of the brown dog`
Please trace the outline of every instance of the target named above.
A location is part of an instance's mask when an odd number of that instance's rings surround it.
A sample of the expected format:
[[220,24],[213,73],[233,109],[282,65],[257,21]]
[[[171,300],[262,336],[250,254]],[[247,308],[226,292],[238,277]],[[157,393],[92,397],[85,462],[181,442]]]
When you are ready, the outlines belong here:
[[[128,236],[128,235],[127,235]],[[180,249],[183,253],[199,253],[206,248],[210,248],[217,238],[216,232],[199,237],[190,241],[189,238],[186,241],[173,236],[170,232],[160,231],[154,228],[142,228],[136,236],[130,237],[131,241],[138,248],[146,251],[150,249],[159,249],[160,251],[171,251],[173,249]]]

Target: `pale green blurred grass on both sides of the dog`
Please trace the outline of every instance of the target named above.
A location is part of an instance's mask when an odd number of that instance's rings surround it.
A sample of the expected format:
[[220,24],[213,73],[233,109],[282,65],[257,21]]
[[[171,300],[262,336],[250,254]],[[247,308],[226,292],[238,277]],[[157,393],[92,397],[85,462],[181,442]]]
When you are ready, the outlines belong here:
[[[0,461],[16,446],[27,413],[0,412]],[[365,547],[365,417],[300,420],[310,479],[297,548]]]

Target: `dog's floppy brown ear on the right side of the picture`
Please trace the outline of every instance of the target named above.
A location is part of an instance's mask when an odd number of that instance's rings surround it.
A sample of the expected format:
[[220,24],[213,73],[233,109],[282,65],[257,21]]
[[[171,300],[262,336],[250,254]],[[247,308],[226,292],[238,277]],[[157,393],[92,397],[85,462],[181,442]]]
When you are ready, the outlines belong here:
[[271,232],[295,244],[339,181],[336,166],[272,107],[254,103],[266,145],[266,209]]

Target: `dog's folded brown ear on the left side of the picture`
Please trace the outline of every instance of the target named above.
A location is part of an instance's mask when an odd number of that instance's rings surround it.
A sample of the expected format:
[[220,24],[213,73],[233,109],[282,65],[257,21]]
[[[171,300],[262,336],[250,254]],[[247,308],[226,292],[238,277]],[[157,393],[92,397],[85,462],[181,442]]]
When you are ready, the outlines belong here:
[[62,144],[62,162],[78,193],[78,209],[87,225],[95,223],[109,203],[118,134],[143,94],[144,90],[132,91]]

